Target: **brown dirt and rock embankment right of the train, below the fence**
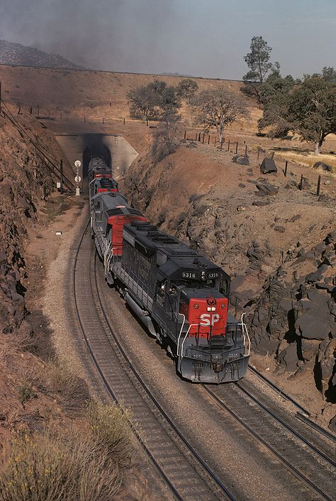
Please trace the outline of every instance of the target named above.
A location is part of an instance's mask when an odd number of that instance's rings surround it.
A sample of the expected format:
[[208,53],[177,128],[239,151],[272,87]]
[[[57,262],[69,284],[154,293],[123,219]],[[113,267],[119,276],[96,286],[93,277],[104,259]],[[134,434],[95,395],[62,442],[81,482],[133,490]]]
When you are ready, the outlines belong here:
[[285,177],[276,160],[278,172],[262,175],[263,157],[250,153],[250,165],[237,165],[233,153],[182,142],[157,165],[148,155],[136,160],[125,189],[150,221],[229,272],[238,310],[249,312],[254,352],[275,358],[276,377],[284,373],[284,385],[315,412],[325,409],[328,422],[336,385],[336,181],[323,176],[316,197],[315,170],[291,165]]

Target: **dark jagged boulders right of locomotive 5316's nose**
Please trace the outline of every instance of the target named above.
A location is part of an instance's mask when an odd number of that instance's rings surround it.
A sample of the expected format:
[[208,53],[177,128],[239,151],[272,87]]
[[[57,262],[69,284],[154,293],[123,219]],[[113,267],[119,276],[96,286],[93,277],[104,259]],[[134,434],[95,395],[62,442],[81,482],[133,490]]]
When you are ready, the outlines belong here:
[[310,368],[315,384],[336,400],[336,231],[312,248],[298,246],[269,277],[254,309],[252,343],[275,353],[280,370]]

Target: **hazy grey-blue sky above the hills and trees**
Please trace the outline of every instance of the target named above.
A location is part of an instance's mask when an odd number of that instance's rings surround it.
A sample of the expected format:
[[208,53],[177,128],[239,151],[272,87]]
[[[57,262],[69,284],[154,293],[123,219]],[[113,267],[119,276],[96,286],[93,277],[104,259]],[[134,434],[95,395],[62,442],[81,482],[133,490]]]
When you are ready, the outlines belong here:
[[254,35],[284,76],[336,67],[336,0],[0,0],[0,23],[99,70],[241,79]]

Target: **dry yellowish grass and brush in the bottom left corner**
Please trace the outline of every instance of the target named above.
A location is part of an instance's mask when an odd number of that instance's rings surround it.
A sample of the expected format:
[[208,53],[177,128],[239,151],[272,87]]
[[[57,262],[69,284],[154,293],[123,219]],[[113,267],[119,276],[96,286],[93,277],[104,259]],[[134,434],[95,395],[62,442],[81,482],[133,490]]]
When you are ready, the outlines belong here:
[[96,403],[80,429],[19,432],[2,458],[0,501],[120,499],[129,436],[121,409]]

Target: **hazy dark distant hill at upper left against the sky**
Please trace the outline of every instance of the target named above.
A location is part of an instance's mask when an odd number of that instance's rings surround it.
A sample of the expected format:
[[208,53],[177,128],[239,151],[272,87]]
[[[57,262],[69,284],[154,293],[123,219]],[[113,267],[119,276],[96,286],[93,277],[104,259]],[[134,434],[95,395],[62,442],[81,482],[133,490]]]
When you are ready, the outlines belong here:
[[69,70],[84,69],[61,55],[47,54],[43,50],[26,47],[20,43],[7,42],[6,40],[0,40],[0,64],[67,68]]

